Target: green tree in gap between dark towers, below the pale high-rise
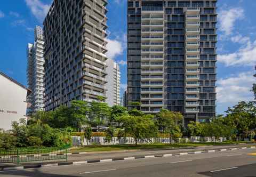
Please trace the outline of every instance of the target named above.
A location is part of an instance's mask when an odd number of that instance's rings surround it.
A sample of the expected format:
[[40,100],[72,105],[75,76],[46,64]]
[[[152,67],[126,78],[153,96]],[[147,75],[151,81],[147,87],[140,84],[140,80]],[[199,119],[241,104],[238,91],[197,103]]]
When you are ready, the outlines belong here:
[[109,116],[109,124],[117,124],[117,128],[120,128],[120,125],[122,123],[122,119],[121,117],[123,115],[126,115],[127,114],[127,109],[123,106],[119,106],[119,105],[114,105],[112,108],[111,108],[111,111],[110,111],[110,116]]

